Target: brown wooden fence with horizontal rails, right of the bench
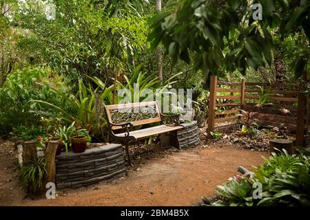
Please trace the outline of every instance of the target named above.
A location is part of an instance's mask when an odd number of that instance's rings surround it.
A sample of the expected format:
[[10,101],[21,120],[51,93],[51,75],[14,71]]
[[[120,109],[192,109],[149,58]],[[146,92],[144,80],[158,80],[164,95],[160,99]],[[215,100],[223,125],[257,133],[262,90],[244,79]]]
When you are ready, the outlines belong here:
[[[308,74],[304,73],[303,77],[303,80],[307,80],[308,82]],[[218,87],[223,85],[229,86],[230,88]],[[296,126],[293,126],[296,127],[296,145],[304,146],[306,144],[305,140],[307,140],[307,131],[309,124],[309,100],[304,94],[304,88],[301,87],[301,84],[249,83],[245,82],[244,79],[242,79],[240,83],[231,83],[227,81],[220,81],[217,79],[216,76],[211,76],[210,82],[209,116],[207,130],[208,138],[212,138],[211,132],[215,131],[216,123],[234,121],[237,119],[240,120],[240,116],[238,116],[238,114],[240,114],[240,109],[250,104],[250,100],[260,99],[259,94],[261,91],[260,89],[255,88],[256,85],[265,87],[265,90],[270,94],[269,100],[271,100],[272,102],[280,103],[278,104],[278,106],[289,106],[291,107],[291,109],[296,109],[293,104],[298,104],[297,119],[295,119],[296,122],[290,123],[296,123]],[[230,94],[220,96],[218,93]],[[287,103],[288,105],[283,105],[283,103]],[[229,109],[223,109],[223,111],[218,111],[218,107],[229,107]],[[273,109],[272,111],[273,113],[275,112]],[[268,119],[270,118],[274,117],[268,117]]]

